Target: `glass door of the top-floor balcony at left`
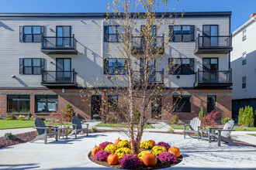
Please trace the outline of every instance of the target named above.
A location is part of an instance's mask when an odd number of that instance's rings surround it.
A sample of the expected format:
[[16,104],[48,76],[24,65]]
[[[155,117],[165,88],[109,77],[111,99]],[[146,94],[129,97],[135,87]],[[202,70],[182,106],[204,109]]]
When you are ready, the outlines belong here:
[[57,47],[71,47],[71,26],[56,27]]

